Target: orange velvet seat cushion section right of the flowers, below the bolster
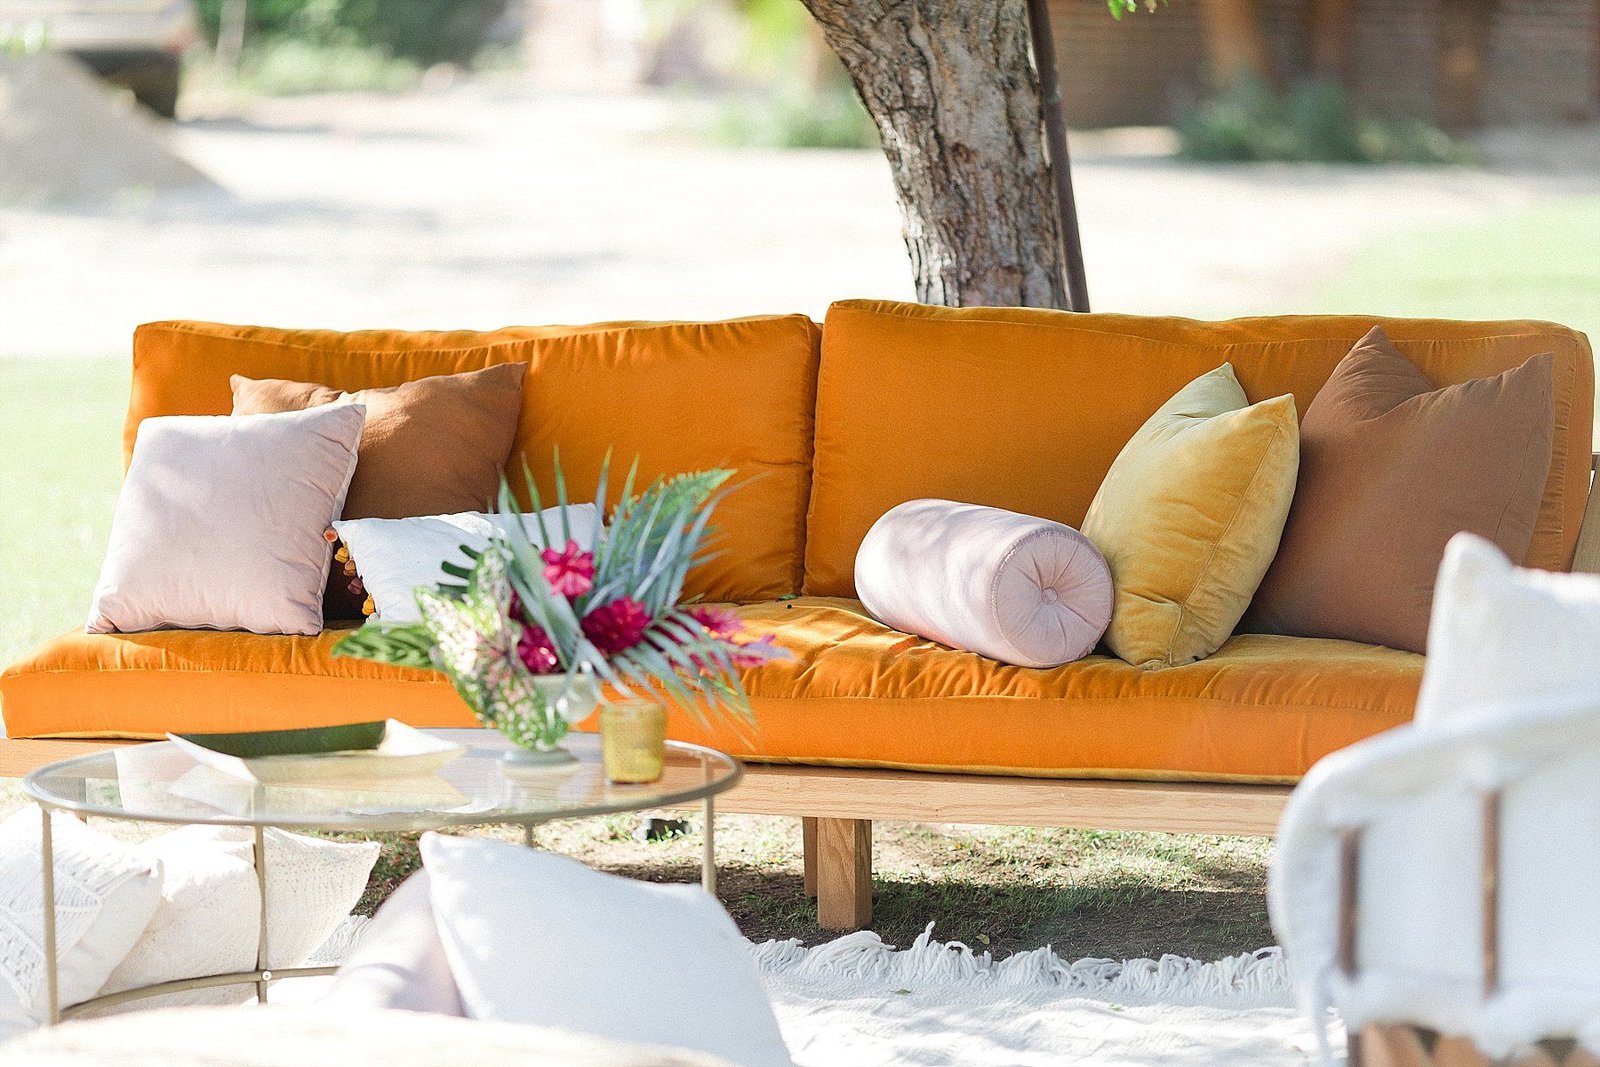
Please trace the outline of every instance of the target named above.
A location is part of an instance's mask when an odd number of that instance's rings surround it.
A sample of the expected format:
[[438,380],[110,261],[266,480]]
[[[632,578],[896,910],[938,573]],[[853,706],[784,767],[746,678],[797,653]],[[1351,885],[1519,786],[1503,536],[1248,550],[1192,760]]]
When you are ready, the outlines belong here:
[[794,659],[747,678],[754,739],[678,718],[744,757],[1038,777],[1293,781],[1411,720],[1422,657],[1350,641],[1240,635],[1197,664],[1090,656],[1008,667],[875,622],[856,600],[741,611]]

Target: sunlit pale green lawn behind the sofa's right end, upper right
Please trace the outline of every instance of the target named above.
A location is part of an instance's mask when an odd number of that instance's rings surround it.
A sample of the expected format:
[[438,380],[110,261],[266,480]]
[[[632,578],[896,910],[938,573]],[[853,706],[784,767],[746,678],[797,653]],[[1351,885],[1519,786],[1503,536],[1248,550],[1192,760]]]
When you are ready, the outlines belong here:
[[1547,318],[1600,339],[1600,197],[1474,226],[1390,234],[1317,286],[1310,309]]

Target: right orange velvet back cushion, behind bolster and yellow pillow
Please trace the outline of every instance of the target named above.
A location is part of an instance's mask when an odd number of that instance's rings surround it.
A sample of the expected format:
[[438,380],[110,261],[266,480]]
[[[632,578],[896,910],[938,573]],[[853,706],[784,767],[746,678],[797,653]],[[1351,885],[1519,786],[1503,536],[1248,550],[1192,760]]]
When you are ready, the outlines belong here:
[[822,328],[805,592],[853,595],[867,530],[917,498],[1078,526],[1122,446],[1187,382],[1230,362],[1253,403],[1294,394],[1304,413],[1374,323],[1437,386],[1555,355],[1554,454],[1526,563],[1570,566],[1594,434],[1594,357],[1573,330],[1325,315],[1206,323],[843,301]]

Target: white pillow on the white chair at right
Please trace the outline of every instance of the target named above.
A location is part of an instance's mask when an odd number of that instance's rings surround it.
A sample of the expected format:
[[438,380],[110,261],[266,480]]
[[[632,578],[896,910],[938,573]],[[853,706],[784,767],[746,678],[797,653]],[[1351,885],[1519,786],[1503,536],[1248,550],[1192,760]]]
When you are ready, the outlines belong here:
[[1418,726],[1600,705],[1600,576],[1512,566],[1483,537],[1445,549]]

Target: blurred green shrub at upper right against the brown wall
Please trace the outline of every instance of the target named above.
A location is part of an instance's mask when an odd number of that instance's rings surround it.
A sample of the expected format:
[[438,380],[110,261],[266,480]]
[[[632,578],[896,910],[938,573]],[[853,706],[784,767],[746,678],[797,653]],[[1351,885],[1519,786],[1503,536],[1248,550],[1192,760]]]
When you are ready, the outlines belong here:
[[1282,93],[1243,78],[1178,122],[1182,158],[1243,163],[1464,163],[1472,152],[1421,120],[1360,115],[1334,82]]

